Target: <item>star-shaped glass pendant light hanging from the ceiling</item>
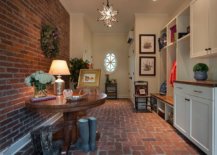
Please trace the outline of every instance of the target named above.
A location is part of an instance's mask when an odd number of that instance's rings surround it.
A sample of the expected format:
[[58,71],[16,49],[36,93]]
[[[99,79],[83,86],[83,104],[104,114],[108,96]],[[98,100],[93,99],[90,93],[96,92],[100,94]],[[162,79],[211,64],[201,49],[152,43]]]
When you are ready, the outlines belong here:
[[103,3],[103,10],[97,9],[100,13],[100,17],[98,18],[98,21],[103,21],[104,24],[107,27],[112,27],[112,22],[117,22],[116,15],[118,14],[118,11],[113,10],[112,5],[109,5],[109,1],[107,0],[107,5],[104,5]]

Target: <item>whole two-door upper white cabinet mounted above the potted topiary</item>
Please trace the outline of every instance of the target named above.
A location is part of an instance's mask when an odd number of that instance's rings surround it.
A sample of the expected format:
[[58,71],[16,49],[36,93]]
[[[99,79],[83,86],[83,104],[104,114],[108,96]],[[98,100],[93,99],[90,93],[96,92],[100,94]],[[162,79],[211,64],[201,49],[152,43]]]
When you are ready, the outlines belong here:
[[217,55],[217,1],[194,0],[190,5],[191,57]]

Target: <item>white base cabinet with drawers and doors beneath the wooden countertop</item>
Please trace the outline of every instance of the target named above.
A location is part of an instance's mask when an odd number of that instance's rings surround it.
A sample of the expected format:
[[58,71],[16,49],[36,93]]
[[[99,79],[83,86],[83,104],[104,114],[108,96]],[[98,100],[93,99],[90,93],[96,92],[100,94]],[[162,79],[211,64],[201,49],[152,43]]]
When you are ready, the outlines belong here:
[[174,126],[206,154],[216,155],[217,87],[177,82],[174,89]]

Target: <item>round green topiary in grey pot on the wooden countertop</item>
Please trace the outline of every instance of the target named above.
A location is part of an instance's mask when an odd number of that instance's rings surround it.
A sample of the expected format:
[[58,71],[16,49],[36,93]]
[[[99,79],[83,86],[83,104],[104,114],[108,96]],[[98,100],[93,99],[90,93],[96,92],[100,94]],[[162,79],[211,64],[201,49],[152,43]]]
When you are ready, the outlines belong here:
[[207,71],[209,70],[209,67],[204,63],[197,63],[194,65],[193,71],[194,71],[194,78],[198,81],[204,81],[207,80]]

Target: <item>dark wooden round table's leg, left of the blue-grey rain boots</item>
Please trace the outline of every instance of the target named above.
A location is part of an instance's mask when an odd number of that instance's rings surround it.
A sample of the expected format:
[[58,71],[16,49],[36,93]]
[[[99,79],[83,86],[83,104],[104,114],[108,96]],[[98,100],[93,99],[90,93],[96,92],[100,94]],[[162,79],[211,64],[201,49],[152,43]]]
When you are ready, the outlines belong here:
[[75,143],[77,140],[77,112],[65,112],[63,113],[64,119],[64,144],[62,148],[62,154],[67,154],[71,143]]

